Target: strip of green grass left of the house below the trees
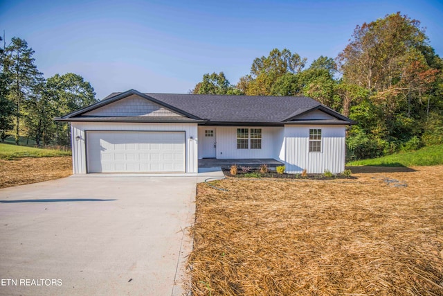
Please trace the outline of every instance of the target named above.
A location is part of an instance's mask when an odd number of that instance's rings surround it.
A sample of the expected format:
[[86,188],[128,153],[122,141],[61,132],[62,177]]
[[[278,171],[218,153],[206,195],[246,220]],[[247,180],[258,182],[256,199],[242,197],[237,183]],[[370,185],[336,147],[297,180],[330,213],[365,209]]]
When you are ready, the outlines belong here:
[[0,143],[0,159],[17,159],[21,157],[53,157],[71,155],[70,151],[50,150],[26,146],[15,146]]

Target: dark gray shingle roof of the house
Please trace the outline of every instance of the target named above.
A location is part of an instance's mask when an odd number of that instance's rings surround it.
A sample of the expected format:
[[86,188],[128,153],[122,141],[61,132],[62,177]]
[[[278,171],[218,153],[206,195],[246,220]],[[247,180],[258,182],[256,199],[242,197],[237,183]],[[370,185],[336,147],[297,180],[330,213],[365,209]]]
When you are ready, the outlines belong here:
[[[145,121],[147,117],[123,118],[109,117],[103,118],[86,118],[82,114],[102,107],[109,103],[121,100],[127,96],[136,94],[147,100],[159,103],[164,107],[182,114],[187,120],[194,120],[199,123],[217,123],[221,125],[229,123],[262,123],[262,124],[282,124],[303,122],[296,119],[300,114],[311,112],[312,110],[321,110],[331,116],[334,120],[323,121],[325,124],[354,124],[355,122],[347,119],[338,112],[321,105],[318,101],[305,96],[225,96],[225,95],[208,95],[208,94],[152,94],[140,92],[131,89],[124,93],[112,93],[102,101],[80,110],[66,114],[58,121]],[[166,120],[166,119],[165,119]],[[177,119],[168,119],[169,121],[177,121]],[[183,119],[182,119],[183,120]],[[150,119],[150,121],[153,121]],[[163,119],[161,120],[163,121]],[[307,123],[307,121],[304,121]],[[316,121],[320,123],[320,121]],[[311,123],[311,122],[309,122]]]

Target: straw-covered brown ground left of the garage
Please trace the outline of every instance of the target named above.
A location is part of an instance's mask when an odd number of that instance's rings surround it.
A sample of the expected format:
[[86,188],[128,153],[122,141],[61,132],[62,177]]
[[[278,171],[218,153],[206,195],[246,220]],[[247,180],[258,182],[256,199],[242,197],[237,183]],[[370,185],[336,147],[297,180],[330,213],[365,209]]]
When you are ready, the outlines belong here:
[[69,175],[72,175],[70,156],[0,159],[0,188],[59,179]]

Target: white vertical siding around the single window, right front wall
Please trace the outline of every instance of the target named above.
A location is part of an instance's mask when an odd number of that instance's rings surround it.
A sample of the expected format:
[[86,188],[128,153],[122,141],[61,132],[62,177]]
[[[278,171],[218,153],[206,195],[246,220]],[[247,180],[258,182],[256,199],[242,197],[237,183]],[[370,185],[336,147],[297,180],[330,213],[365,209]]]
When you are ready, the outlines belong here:
[[[309,153],[309,128],[322,130],[322,151]],[[345,126],[285,125],[285,166],[287,173],[342,173],[345,169]]]

